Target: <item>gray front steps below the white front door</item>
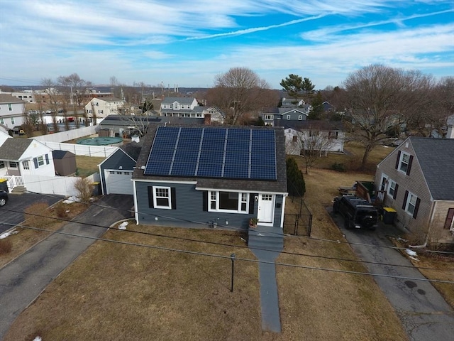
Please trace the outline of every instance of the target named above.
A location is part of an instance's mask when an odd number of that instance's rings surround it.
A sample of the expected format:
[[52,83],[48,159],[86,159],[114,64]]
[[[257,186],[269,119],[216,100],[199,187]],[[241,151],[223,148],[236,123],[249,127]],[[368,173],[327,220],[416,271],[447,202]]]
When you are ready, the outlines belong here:
[[284,247],[284,236],[279,227],[256,227],[249,229],[248,247],[280,252]]

